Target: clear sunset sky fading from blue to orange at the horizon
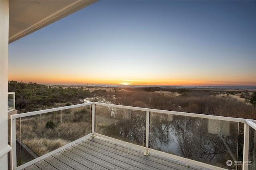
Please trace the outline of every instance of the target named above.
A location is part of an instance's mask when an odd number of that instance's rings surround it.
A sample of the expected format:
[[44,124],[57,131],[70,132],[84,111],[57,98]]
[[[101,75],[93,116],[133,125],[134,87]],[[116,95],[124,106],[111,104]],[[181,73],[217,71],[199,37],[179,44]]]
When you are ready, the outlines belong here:
[[100,1],[9,45],[38,84],[256,86],[256,1]]

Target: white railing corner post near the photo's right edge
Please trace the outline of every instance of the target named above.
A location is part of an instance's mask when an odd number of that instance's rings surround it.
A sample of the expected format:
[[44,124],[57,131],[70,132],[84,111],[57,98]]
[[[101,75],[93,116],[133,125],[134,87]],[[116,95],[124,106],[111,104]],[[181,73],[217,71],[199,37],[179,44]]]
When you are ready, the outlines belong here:
[[244,152],[243,152],[243,170],[248,170],[249,159],[249,132],[250,126],[244,123]]

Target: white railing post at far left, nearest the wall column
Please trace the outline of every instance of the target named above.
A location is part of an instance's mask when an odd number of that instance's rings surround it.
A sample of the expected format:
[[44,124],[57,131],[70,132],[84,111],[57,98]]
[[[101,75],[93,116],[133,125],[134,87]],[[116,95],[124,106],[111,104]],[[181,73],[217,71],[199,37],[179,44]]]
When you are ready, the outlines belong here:
[[17,154],[16,154],[16,119],[12,118],[11,115],[11,170],[17,168]]

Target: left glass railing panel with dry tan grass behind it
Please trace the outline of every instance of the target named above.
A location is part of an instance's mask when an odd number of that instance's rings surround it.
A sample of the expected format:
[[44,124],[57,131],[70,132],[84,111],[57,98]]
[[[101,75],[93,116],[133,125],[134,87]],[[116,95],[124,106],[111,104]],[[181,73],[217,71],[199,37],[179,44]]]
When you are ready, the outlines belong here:
[[83,106],[20,118],[16,139],[20,145],[17,156],[22,156],[17,163],[24,164],[91,133],[91,110],[91,106]]

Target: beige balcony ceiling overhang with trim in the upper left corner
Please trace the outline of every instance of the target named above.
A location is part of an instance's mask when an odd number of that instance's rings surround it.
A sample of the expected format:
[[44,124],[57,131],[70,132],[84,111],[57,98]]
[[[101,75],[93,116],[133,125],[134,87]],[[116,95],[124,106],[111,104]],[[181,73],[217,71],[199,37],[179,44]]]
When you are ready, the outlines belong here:
[[10,0],[9,43],[98,0]]

